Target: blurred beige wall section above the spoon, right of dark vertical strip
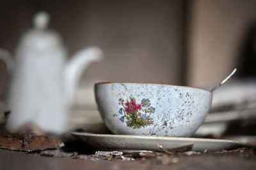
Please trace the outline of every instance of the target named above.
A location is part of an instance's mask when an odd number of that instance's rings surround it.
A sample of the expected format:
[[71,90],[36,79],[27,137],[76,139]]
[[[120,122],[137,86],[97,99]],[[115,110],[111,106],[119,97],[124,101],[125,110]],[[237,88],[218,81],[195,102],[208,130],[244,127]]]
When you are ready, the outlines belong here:
[[238,65],[240,41],[256,20],[256,1],[192,2],[188,83],[194,87],[216,84]]

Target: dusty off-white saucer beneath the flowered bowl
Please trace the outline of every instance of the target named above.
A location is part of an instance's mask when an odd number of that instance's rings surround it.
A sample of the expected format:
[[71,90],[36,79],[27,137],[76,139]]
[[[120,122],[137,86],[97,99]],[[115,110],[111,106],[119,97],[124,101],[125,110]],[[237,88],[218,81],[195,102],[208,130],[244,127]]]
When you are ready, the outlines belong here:
[[205,150],[216,152],[238,145],[236,141],[226,139],[92,134],[86,132],[72,132],[72,135],[100,150],[151,150],[162,152],[163,150],[159,146],[163,146],[165,150],[172,150],[184,145],[194,144],[192,150],[195,152],[204,152]]

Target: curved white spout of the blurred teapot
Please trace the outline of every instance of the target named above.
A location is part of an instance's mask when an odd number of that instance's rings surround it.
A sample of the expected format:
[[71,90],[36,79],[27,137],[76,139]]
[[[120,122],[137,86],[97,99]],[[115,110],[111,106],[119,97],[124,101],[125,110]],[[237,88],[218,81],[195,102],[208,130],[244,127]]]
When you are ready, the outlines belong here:
[[103,52],[100,48],[92,46],[77,52],[67,63],[64,70],[65,94],[67,105],[70,106],[74,101],[76,87],[81,79],[84,70],[92,63],[102,59]]

